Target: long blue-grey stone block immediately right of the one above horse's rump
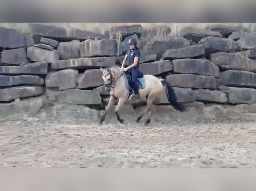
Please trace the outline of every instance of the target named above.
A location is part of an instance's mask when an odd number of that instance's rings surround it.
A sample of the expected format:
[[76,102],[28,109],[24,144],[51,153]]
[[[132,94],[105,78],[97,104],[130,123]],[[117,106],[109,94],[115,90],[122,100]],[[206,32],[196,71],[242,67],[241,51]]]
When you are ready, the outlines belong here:
[[220,76],[220,70],[217,65],[205,59],[177,59],[172,60],[174,73],[199,74],[206,76]]

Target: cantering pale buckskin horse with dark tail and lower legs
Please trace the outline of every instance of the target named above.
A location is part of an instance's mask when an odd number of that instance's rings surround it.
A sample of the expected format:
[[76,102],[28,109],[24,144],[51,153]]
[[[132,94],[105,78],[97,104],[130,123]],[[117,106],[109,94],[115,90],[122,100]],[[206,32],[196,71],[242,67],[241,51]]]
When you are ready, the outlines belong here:
[[[124,120],[121,118],[119,109],[123,106],[123,104],[130,100],[132,96],[132,91],[130,89],[130,81],[131,77],[127,72],[123,72],[122,69],[118,66],[110,67],[110,68],[100,68],[102,72],[102,79],[104,81],[105,87],[110,88],[110,99],[108,105],[105,109],[105,112],[101,116],[100,124],[105,120],[105,117],[117,99],[118,104],[115,108],[115,115],[117,116],[117,120],[120,123],[124,123]],[[136,122],[139,122],[140,119],[148,112],[148,118],[145,121],[145,125],[148,125],[151,121],[152,115],[152,105],[155,98],[163,91],[164,86],[160,79],[153,75],[143,75],[140,72],[138,76],[139,83],[139,95],[140,98],[146,97],[146,108],[145,110],[136,118]],[[181,112],[185,111],[185,106],[182,103],[177,102],[177,97],[175,95],[173,87],[170,83],[166,83],[166,96],[170,104]]]

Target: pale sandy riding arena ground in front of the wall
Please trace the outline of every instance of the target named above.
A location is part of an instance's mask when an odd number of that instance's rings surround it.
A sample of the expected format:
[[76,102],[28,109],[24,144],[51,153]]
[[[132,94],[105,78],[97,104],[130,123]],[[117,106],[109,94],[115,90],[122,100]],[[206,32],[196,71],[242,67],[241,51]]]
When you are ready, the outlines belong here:
[[[113,119],[114,121],[114,119]],[[0,123],[0,167],[252,168],[253,120]]]

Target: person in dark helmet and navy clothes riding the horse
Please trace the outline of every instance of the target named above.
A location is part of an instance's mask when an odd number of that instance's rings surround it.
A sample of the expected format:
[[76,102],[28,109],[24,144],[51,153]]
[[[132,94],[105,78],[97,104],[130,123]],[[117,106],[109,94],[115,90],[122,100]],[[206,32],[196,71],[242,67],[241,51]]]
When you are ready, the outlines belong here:
[[[123,63],[122,69],[123,71],[130,71],[131,72],[131,86],[134,91],[134,95],[132,99],[140,99],[139,96],[139,85],[138,85],[138,75],[139,75],[139,60],[140,60],[140,51],[137,47],[136,39],[129,39],[128,41],[130,50],[127,51]],[[124,68],[125,61],[128,58],[129,66]]]

